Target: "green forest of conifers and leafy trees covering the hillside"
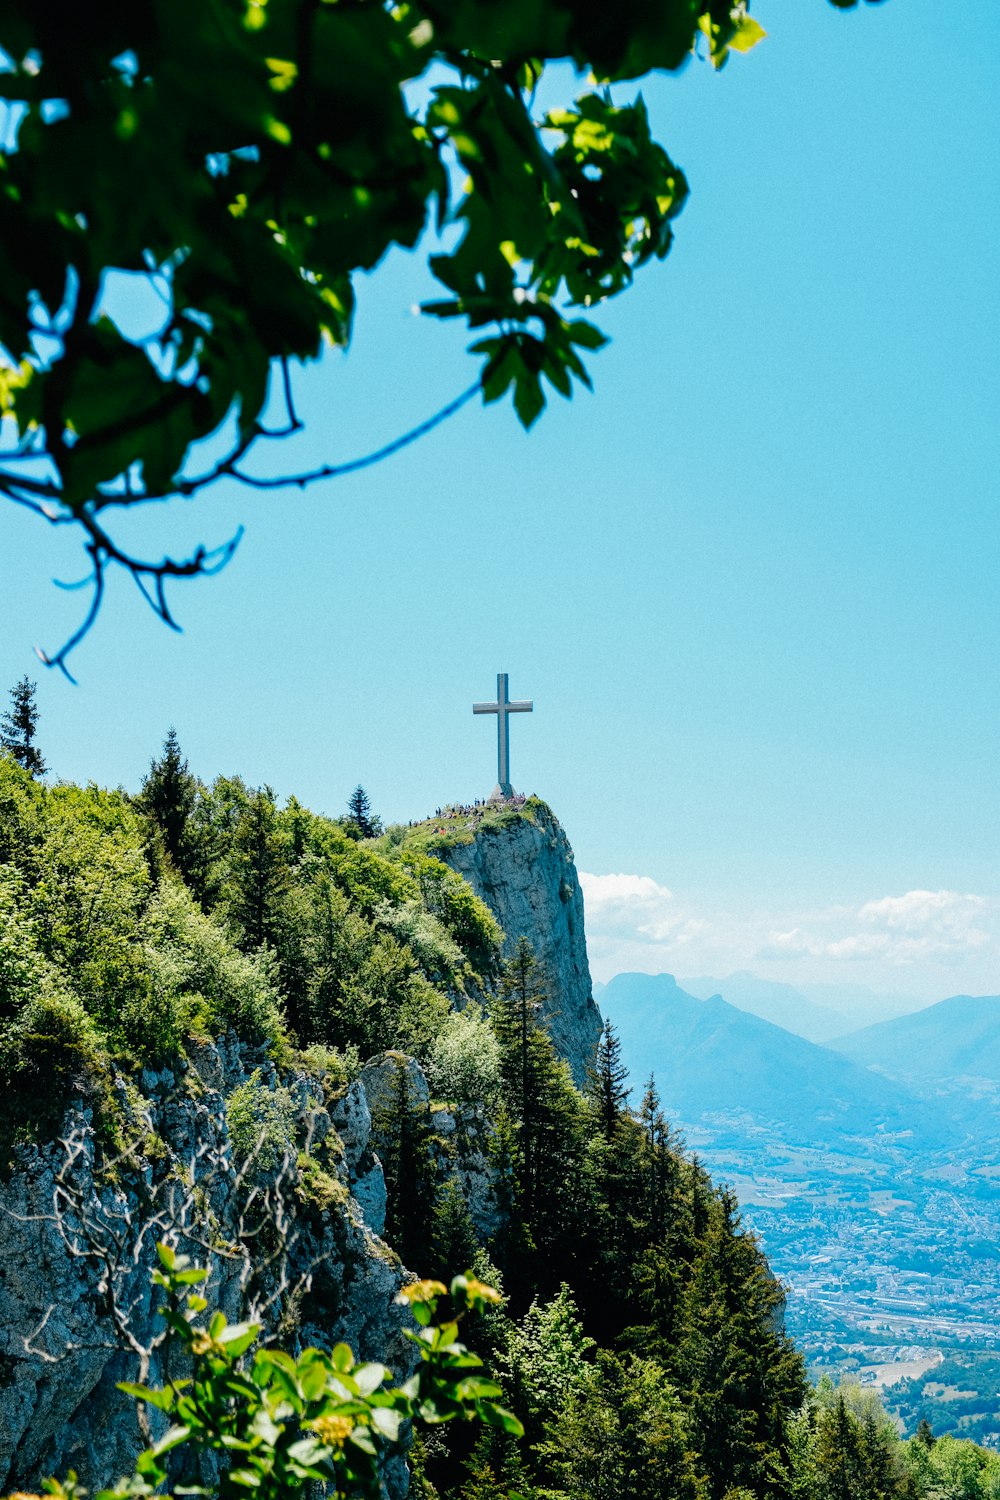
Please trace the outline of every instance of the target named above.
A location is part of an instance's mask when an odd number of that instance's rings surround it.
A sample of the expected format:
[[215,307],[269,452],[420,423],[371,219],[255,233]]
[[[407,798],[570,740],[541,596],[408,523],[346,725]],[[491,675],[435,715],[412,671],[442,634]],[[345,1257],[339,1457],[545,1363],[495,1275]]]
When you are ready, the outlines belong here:
[[[226,1042],[244,1064],[225,1101],[238,1180],[283,1185],[267,1200],[280,1222],[336,1222],[343,1143],[310,1128],[309,1089],[334,1110],[375,1060],[385,1254],[418,1287],[468,1270],[496,1288],[469,1311],[463,1358],[484,1360],[511,1413],[418,1430],[417,1494],[996,1500],[996,1455],[930,1430],[900,1440],[871,1392],[808,1389],[733,1194],[685,1152],[655,1080],[630,1107],[613,1028],[574,1086],[541,1024],[529,934],[511,936],[501,958],[495,916],[427,830],[382,831],[363,794],[331,819],[238,777],[205,784],[172,732],[138,795],[46,784],[0,753],[3,1174],[69,1110],[93,1122],[96,1179],[153,1194],[178,1162],[148,1096],[196,1092],[199,1054]],[[297,1356],[304,1322],[283,1308]],[[214,1336],[198,1358],[222,1358]],[[12,1378],[0,1362],[0,1398]],[[367,1492],[343,1466],[369,1430],[330,1431],[322,1476]],[[391,1446],[382,1431],[372,1452]]]

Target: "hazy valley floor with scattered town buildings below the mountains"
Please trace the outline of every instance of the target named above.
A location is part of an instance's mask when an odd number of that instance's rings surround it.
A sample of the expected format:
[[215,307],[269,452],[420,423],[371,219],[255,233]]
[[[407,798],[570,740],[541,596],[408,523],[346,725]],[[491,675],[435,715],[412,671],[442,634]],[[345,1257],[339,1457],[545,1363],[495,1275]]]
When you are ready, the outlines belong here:
[[[925,1416],[1000,1446],[1000,1182],[972,1154],[789,1146],[747,1118],[685,1131],[727,1182],[789,1292],[786,1323],[814,1378],[883,1389],[913,1431]],[[945,1365],[961,1378],[942,1380]]]

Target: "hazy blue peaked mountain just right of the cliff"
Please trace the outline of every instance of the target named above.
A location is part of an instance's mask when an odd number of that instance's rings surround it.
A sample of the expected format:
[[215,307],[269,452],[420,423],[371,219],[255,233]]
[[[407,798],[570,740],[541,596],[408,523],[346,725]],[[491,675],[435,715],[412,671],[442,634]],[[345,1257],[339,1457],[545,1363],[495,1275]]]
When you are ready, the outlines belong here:
[[880,1074],[721,998],[696,999],[669,974],[619,974],[601,1010],[621,1036],[642,1089],[655,1072],[667,1114],[748,1114],[778,1124],[789,1142],[925,1131],[927,1107]]

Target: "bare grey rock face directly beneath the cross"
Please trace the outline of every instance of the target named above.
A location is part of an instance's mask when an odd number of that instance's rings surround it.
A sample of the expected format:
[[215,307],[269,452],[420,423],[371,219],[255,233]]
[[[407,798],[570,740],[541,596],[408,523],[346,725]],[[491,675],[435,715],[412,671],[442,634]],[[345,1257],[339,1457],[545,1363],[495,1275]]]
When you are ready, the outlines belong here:
[[579,1084],[601,1030],[583,936],[583,892],[573,849],[544,802],[474,825],[468,843],[435,850],[463,874],[504,928],[504,956],[528,938],[541,968],[546,1023]]

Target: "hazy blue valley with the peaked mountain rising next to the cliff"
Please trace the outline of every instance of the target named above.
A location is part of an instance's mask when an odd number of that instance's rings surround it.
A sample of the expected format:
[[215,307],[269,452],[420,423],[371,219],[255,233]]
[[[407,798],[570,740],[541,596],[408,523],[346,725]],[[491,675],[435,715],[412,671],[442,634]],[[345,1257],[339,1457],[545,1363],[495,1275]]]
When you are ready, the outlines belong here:
[[664,975],[622,975],[601,1006],[633,1078],[655,1074],[687,1149],[736,1194],[811,1377],[880,1388],[907,1434],[927,1419],[1000,1448],[996,1080],[891,1078],[849,1064],[852,1040],[816,1046]]

